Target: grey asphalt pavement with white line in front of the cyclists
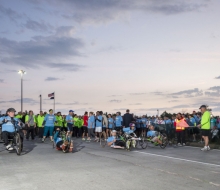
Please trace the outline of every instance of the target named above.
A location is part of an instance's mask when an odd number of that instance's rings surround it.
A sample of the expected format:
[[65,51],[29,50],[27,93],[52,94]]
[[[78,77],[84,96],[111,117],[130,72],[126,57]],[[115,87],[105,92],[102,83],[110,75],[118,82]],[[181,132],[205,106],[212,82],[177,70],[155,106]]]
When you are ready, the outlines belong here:
[[220,189],[220,151],[159,147],[130,152],[74,139],[62,153],[48,140],[25,141],[21,156],[0,143],[0,189],[197,190]]

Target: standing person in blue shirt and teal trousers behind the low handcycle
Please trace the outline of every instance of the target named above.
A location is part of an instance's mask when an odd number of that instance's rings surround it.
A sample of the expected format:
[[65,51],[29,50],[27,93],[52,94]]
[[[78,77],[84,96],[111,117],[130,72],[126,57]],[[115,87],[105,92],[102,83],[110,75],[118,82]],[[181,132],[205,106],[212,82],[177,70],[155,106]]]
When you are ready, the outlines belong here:
[[47,133],[49,132],[50,141],[53,142],[53,131],[54,131],[54,123],[56,122],[56,117],[53,114],[53,110],[49,110],[49,114],[47,114],[44,118],[43,125],[44,126],[44,136],[42,138],[42,142],[45,141]]

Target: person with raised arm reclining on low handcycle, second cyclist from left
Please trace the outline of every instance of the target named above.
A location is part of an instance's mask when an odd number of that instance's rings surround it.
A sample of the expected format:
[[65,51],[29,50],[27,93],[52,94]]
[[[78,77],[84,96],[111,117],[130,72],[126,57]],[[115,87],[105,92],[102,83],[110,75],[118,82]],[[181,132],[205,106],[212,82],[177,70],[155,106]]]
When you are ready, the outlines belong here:
[[69,142],[68,140],[65,140],[65,139],[66,139],[66,136],[64,135],[64,137],[62,137],[60,135],[60,128],[57,128],[56,133],[54,135],[54,143],[56,144],[57,150],[63,150],[64,152],[66,151],[72,152],[73,142],[71,141],[70,148],[69,150],[67,150]]

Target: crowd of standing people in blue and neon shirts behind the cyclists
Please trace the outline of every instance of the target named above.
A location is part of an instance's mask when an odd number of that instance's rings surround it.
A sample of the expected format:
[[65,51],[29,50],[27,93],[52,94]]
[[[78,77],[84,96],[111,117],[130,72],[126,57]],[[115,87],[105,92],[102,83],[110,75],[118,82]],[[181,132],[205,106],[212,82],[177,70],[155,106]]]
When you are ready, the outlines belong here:
[[[126,110],[124,115],[120,112],[109,114],[103,111],[97,111],[96,113],[86,111],[84,115],[77,115],[73,110],[69,110],[68,115],[63,115],[61,112],[54,114],[53,110],[50,109],[48,113],[40,111],[39,114],[34,114],[32,110],[28,113],[18,112],[14,118],[25,124],[22,130],[26,140],[30,138],[34,140],[38,137],[44,142],[46,137],[49,137],[53,141],[53,134],[57,129],[67,132],[72,137],[82,138],[83,141],[90,141],[93,137],[98,140],[100,133],[105,131],[107,140],[112,136],[113,130],[114,132],[115,130],[120,131],[123,128],[130,127],[130,124],[133,123],[138,137],[142,132],[147,135],[150,126],[153,126],[155,130],[158,127],[164,127],[169,140],[171,140],[171,133],[174,131],[178,146],[186,145],[186,129],[190,128],[187,131],[192,135],[193,141],[196,141],[196,137],[200,134],[205,141],[203,150],[209,150],[208,139],[212,138],[213,135],[216,138],[219,137],[220,118],[213,117],[205,105],[201,106],[200,109],[201,112],[178,113],[172,116],[135,116],[129,110]],[[3,120],[8,114],[9,112],[5,116],[0,116],[0,118]],[[7,118],[7,120],[10,120],[10,118]],[[4,128],[2,131],[4,132]],[[4,136],[4,138],[6,137]]]

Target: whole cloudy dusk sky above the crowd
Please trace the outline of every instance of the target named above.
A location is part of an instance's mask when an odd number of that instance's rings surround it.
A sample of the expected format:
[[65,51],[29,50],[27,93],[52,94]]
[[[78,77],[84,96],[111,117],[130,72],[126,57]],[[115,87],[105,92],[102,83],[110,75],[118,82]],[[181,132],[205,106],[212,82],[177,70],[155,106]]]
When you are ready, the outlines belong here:
[[0,0],[0,111],[220,114],[219,0]]

